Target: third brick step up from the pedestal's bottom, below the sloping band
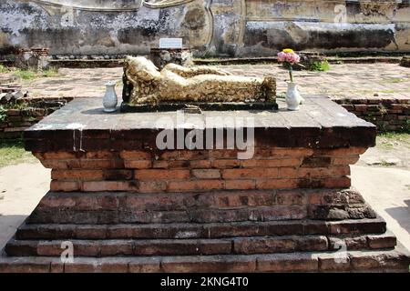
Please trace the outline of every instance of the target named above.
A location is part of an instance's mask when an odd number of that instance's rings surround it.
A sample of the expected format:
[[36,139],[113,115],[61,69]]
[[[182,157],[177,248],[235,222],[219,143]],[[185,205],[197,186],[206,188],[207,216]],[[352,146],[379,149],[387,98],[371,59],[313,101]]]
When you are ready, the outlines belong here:
[[151,225],[27,225],[17,229],[18,240],[130,239],[130,238],[221,238],[232,236],[294,236],[384,234],[383,218],[326,222],[284,220],[212,224]]

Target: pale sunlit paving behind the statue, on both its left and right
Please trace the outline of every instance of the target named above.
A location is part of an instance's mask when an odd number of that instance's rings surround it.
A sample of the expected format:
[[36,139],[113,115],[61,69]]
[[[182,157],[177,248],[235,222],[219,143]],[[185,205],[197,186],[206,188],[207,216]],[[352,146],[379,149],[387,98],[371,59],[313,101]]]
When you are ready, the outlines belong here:
[[[233,74],[277,76],[278,94],[286,91],[287,72],[280,65],[220,65]],[[332,98],[410,98],[410,68],[398,64],[332,65],[328,72],[294,72],[304,95]],[[61,68],[59,75],[23,82],[23,90],[33,97],[99,97],[104,84],[118,80],[121,95],[122,68]]]

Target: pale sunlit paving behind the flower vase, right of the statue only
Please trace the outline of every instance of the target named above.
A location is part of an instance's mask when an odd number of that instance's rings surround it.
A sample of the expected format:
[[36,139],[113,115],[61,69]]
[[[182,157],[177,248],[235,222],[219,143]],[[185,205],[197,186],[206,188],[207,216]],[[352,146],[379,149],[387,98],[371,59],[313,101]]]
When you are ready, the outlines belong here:
[[[278,94],[286,91],[288,75],[278,65],[225,66],[234,74],[263,75],[278,79]],[[332,65],[327,72],[294,72],[300,91],[306,95],[337,98],[410,98],[410,69],[397,64]]]

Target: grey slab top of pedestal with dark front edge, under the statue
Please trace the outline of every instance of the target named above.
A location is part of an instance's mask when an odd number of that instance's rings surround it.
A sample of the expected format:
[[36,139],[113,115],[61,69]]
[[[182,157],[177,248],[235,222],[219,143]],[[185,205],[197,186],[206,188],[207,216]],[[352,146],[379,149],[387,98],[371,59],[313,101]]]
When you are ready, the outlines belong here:
[[279,110],[117,113],[102,98],[77,98],[25,132],[26,150],[92,151],[152,148],[169,129],[254,129],[256,146],[334,148],[375,145],[376,127],[323,96],[310,96],[299,111]]

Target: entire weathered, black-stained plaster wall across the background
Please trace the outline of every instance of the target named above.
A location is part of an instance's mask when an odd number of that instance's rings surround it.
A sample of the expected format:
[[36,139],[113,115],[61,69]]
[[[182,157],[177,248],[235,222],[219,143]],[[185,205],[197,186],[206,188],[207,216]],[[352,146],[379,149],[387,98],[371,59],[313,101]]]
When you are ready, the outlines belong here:
[[[72,5],[70,5],[70,3]],[[298,50],[410,51],[408,0],[5,0],[0,50],[46,46],[54,55],[148,54],[183,37],[197,55]]]

